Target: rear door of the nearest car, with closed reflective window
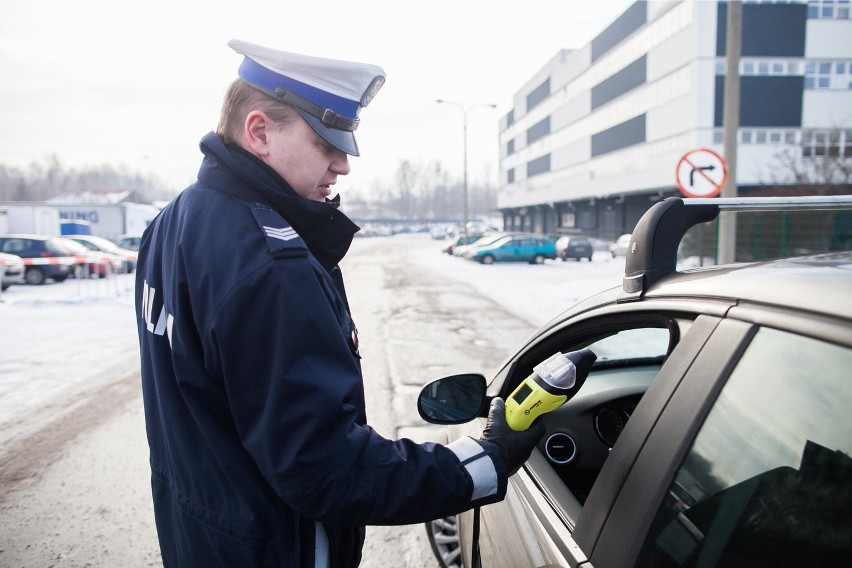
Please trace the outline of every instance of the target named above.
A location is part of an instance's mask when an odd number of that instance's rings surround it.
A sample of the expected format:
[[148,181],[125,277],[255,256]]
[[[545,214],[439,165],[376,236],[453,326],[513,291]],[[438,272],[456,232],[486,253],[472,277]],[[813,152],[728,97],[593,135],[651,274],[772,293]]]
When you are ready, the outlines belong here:
[[611,506],[574,534],[589,566],[852,565],[848,325],[748,319],[719,323],[632,464],[602,472]]

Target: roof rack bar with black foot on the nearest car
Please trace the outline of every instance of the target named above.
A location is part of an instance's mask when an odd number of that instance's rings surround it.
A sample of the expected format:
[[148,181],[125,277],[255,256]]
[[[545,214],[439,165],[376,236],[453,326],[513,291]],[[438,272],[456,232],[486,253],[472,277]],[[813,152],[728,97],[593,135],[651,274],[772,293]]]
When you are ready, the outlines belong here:
[[803,197],[669,197],[654,204],[636,223],[627,248],[619,302],[639,300],[663,277],[676,272],[677,250],[686,232],[726,211],[852,209],[852,195]]

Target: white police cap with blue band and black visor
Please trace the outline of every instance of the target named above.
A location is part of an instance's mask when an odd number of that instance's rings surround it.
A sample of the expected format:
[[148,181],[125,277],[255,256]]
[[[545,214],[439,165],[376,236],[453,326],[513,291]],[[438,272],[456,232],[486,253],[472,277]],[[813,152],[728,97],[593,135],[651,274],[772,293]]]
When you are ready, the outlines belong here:
[[302,118],[335,148],[358,155],[355,129],[361,108],[385,83],[381,67],[278,51],[232,39],[244,55],[240,79],[296,108]]

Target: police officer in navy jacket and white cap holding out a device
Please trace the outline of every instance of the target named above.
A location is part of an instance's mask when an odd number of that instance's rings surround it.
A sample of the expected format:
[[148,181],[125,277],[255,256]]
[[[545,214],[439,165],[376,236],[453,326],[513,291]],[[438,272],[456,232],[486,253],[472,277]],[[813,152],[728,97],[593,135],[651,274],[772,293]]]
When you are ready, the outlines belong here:
[[163,563],[357,566],[364,525],[502,499],[543,428],[511,431],[499,399],[479,440],[392,441],[367,425],[338,267],[358,227],[330,196],[384,71],[229,45],[244,58],[198,180],[139,251]]

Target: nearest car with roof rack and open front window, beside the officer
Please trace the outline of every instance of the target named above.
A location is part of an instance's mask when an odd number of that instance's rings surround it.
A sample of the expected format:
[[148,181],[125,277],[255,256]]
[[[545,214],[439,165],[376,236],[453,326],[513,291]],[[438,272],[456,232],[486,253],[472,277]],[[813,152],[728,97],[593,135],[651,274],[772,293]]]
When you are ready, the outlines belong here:
[[[675,270],[686,230],[720,208],[852,208],[793,201],[655,204],[621,286],[539,330],[487,385],[424,389],[424,419],[478,438],[490,399],[535,365],[597,355],[505,500],[478,511],[482,566],[852,566],[852,251]],[[427,524],[441,566],[471,566],[476,514]]]

